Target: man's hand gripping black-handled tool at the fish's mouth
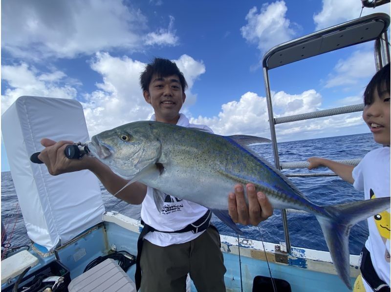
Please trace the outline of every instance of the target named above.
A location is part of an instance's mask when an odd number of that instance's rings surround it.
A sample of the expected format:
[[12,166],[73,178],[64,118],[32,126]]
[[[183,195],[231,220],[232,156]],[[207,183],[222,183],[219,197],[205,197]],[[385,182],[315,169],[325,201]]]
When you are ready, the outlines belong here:
[[65,172],[73,172],[82,169],[87,169],[88,161],[91,157],[83,157],[83,159],[68,159],[64,154],[65,147],[73,144],[72,141],[53,141],[47,138],[41,140],[41,144],[45,147],[38,158],[46,165],[47,170],[51,175],[59,175]]

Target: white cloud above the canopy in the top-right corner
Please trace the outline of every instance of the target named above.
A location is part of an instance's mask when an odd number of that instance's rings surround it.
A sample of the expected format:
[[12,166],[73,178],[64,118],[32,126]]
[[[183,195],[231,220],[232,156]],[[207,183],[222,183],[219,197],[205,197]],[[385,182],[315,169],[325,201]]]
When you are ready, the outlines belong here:
[[[345,21],[359,18],[361,3],[357,0],[323,0],[322,11],[314,14],[315,30],[320,30]],[[361,16],[376,12],[390,14],[390,4],[384,4],[376,8],[364,8]]]

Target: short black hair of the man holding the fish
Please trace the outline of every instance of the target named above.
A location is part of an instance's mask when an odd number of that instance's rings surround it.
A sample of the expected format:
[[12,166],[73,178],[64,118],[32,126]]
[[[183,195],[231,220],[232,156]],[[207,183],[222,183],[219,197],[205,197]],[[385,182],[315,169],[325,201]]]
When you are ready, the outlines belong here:
[[176,66],[175,62],[171,62],[168,59],[155,58],[151,63],[145,66],[143,73],[140,75],[140,85],[143,92],[149,90],[153,74],[156,74],[158,77],[177,75],[183,92],[185,92],[185,89],[187,88],[185,77]]

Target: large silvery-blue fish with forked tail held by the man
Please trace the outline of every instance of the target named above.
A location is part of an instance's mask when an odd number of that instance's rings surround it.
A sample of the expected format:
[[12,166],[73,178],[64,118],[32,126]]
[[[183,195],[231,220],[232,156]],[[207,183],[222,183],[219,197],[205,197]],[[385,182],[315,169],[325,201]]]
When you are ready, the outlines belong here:
[[[351,289],[348,236],[350,228],[385,209],[390,197],[319,206],[249,145],[269,139],[221,136],[199,128],[139,121],[91,138],[92,155],[117,175],[153,188],[160,211],[166,194],[210,209],[239,234],[228,212],[228,193],[235,184],[254,184],[273,209],[297,209],[316,216],[335,269]],[[124,187],[125,188],[125,187]],[[123,189],[123,188],[122,188]],[[248,201],[246,199],[248,204]]]

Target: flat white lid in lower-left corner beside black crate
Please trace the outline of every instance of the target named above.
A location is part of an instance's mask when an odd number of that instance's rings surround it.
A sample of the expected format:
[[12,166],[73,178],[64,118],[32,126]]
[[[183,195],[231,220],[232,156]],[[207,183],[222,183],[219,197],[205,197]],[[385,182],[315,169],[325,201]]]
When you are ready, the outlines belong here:
[[22,250],[1,261],[1,284],[22,273],[28,267],[39,263],[38,258],[27,250]]

